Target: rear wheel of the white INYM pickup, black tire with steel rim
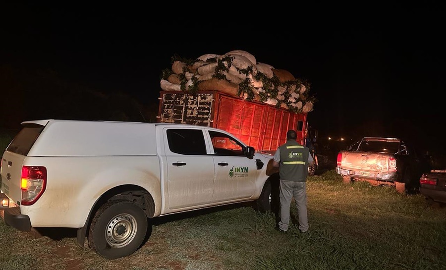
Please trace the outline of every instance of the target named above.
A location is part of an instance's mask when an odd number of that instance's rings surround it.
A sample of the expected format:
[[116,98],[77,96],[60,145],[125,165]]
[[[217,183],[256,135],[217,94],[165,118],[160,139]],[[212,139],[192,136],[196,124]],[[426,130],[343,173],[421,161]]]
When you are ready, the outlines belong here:
[[147,223],[146,214],[135,203],[106,202],[93,217],[88,244],[106,259],[128,256],[141,246],[147,234]]

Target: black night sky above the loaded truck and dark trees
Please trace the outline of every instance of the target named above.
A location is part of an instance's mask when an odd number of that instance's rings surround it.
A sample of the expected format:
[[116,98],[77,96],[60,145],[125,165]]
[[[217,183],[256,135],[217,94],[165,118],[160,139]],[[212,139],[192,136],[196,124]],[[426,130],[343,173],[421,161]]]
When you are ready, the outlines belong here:
[[445,148],[443,6],[2,5],[0,65],[51,69],[148,105],[172,56],[243,50],[311,83],[308,120],[321,135]]

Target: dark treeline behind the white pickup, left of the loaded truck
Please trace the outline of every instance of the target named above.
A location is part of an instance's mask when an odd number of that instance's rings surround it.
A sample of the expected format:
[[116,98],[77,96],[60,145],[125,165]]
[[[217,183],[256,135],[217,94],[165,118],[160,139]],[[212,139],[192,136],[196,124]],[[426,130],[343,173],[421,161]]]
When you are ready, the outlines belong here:
[[6,129],[36,119],[156,122],[158,112],[158,104],[142,105],[124,91],[91,89],[51,69],[0,66],[0,89],[0,128]]

